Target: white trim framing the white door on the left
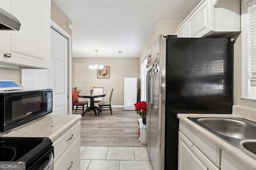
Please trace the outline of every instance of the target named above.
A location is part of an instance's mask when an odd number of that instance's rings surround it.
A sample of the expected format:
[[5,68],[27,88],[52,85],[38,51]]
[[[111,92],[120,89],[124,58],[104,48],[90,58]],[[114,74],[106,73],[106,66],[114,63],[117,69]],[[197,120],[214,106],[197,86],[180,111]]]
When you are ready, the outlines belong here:
[[68,114],[72,114],[72,36],[52,20],[51,27],[68,39]]

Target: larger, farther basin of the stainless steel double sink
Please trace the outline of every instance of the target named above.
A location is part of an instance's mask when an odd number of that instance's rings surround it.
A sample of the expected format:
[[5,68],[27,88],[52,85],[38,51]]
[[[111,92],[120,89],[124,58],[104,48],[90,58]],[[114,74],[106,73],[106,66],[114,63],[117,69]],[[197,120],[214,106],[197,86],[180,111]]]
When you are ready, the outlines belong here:
[[210,131],[236,139],[256,139],[256,123],[243,118],[200,118],[190,120]]

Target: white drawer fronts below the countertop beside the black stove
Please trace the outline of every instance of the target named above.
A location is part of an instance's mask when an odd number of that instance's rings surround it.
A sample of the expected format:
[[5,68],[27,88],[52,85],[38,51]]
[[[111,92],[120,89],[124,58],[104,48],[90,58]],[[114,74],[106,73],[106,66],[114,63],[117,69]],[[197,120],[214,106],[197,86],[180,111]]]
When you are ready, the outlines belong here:
[[58,137],[53,146],[54,169],[77,170],[80,167],[80,121]]

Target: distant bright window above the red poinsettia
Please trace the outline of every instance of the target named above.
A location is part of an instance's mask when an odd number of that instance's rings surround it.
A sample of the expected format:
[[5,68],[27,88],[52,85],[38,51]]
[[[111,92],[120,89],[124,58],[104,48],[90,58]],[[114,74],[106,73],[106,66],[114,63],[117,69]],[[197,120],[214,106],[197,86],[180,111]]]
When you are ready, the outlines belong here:
[[140,64],[140,101],[146,101],[146,84],[147,84],[147,57],[144,57],[142,63]]

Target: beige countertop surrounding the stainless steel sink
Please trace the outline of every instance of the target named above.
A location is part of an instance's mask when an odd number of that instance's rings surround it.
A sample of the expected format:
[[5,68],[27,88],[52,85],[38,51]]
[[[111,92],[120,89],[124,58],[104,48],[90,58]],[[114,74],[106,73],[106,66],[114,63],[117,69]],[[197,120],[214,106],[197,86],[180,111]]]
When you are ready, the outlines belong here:
[[[189,120],[187,117],[243,117],[245,119],[249,119],[252,121],[256,121],[256,109],[251,109],[249,111],[245,111],[244,114],[240,112],[240,107],[233,106],[233,114],[178,114],[177,117],[180,121],[183,121],[192,129],[200,133],[203,137],[211,141],[214,145],[222,149],[224,152],[228,153],[230,156],[235,158],[238,162],[246,166],[250,170],[256,170],[256,160],[251,158],[250,156],[244,154],[236,147],[233,147],[226,141],[217,137],[216,135],[210,133],[203,127],[197,125],[193,121]],[[237,112],[238,111],[238,112]],[[252,114],[250,114],[252,113]]]

